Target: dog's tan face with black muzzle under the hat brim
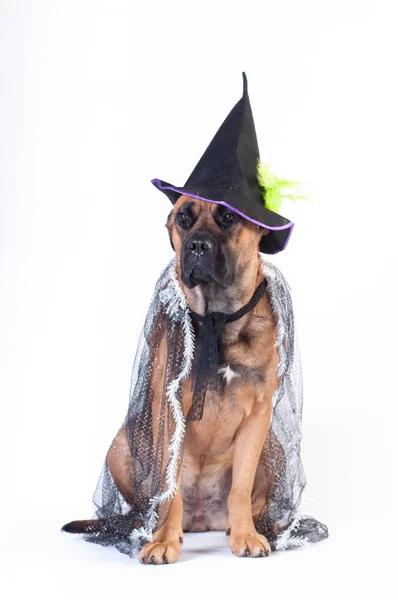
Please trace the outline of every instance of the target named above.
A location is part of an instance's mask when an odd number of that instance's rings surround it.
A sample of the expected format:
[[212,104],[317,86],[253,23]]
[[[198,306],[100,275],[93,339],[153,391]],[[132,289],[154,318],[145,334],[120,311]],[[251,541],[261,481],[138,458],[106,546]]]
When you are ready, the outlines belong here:
[[189,196],[180,196],[166,226],[188,288],[199,283],[230,286],[268,233],[225,206]]

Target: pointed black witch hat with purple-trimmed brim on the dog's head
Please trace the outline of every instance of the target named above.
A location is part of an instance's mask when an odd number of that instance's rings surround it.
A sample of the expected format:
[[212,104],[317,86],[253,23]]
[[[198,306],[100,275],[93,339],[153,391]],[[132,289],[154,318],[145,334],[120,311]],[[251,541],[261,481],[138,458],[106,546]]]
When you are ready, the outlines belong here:
[[260,160],[253,114],[243,73],[243,96],[233,107],[183,187],[160,179],[152,183],[173,204],[185,194],[227,206],[241,217],[269,230],[260,251],[276,254],[287,245],[293,223],[266,208],[266,194],[258,180]]

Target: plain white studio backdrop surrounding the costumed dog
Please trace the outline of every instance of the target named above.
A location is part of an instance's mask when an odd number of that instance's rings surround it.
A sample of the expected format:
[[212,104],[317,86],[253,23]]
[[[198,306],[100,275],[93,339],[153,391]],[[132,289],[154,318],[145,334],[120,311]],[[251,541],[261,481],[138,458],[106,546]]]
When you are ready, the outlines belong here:
[[[394,595],[394,3],[0,2],[0,586],[5,598]],[[185,182],[249,80],[260,150],[311,203],[275,262],[304,367],[307,512],[268,560],[187,536],[148,567],[59,533],[91,496],[172,256],[153,177]],[[156,569],[154,571],[153,569]],[[143,591],[145,590],[145,592]],[[145,596],[143,595],[145,593]]]

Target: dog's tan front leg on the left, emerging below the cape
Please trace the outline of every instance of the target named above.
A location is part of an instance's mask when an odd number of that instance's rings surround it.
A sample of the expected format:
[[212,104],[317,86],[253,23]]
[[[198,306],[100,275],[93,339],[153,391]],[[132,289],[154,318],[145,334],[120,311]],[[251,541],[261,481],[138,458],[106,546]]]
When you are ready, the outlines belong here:
[[139,554],[142,563],[165,565],[178,560],[182,544],[181,475],[166,522],[153,535],[153,542],[145,544]]

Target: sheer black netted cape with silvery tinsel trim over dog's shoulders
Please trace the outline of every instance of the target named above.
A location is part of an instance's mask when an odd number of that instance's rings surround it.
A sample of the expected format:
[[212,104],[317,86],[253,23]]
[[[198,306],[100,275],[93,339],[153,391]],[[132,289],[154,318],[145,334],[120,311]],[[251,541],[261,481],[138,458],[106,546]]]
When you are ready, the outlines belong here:
[[[264,477],[272,482],[270,498],[255,525],[268,537],[273,550],[284,550],[322,540],[328,532],[325,525],[300,513],[306,484],[300,459],[303,397],[291,294],[275,265],[264,260],[263,269],[266,293],[277,314],[279,385],[260,457]],[[161,363],[159,349],[166,357]],[[148,309],[123,423],[128,448],[120,459],[131,478],[133,493],[128,499],[122,496],[105,460],[93,498],[95,518],[100,519],[101,526],[85,534],[87,541],[114,545],[134,556],[165,522],[181,467],[185,432],[182,382],[191,372],[194,349],[189,306],[172,260],[158,279]]]

